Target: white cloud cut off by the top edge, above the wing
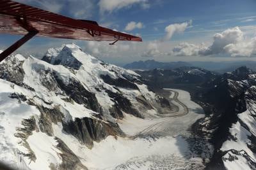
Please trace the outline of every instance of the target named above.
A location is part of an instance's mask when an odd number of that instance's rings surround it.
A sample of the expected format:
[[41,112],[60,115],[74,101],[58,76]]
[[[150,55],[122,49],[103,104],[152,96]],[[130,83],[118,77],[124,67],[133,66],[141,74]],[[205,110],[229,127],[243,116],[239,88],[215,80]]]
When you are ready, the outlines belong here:
[[112,12],[114,10],[120,10],[125,7],[130,7],[133,4],[141,4],[143,8],[148,8],[148,0],[100,0],[99,7],[100,12]]

